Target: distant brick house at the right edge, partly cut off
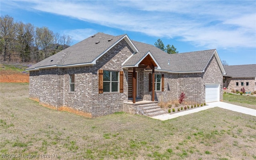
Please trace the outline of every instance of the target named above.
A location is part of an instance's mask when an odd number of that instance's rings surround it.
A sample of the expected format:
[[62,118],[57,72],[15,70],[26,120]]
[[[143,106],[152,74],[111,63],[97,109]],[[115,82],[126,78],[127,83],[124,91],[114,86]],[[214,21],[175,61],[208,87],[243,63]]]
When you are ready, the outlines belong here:
[[223,86],[229,90],[238,90],[244,87],[246,92],[256,90],[256,64],[224,66],[226,75],[223,75]]

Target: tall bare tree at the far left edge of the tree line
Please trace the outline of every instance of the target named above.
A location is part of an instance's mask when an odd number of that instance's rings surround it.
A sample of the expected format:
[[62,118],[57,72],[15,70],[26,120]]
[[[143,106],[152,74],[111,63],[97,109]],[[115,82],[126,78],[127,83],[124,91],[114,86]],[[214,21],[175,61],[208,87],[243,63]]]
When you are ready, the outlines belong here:
[[[11,54],[14,49],[14,39],[15,39],[15,22],[14,19],[8,15],[1,16],[0,18],[1,31],[0,31],[0,42],[1,42],[1,54],[3,52],[4,61],[6,57],[9,56],[9,61],[11,61]],[[3,50],[3,51],[2,51]]]

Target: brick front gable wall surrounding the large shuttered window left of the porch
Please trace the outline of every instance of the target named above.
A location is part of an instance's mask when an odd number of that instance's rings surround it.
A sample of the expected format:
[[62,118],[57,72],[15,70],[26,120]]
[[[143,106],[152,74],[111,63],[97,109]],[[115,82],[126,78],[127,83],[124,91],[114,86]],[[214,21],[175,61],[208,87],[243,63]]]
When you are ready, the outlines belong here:
[[[96,61],[92,72],[92,117],[105,116],[123,111],[123,102],[128,100],[128,70],[122,68],[122,63],[133,53],[125,40],[121,40],[106,54]],[[98,70],[124,71],[124,92],[103,94],[98,93]],[[119,75],[120,77],[120,75]]]

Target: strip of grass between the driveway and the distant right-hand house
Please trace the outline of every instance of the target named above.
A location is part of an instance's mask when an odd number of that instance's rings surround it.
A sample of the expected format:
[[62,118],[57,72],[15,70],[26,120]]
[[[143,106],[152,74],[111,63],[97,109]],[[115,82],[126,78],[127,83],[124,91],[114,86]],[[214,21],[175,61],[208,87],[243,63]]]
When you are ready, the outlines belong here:
[[240,94],[223,94],[224,102],[256,109],[256,96],[244,96]]

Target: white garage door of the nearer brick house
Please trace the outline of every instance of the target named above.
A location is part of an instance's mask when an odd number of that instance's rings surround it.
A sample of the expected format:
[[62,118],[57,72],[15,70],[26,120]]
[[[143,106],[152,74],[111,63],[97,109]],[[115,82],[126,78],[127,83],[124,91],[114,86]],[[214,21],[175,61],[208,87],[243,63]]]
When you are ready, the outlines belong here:
[[205,102],[220,101],[220,84],[205,84]]

